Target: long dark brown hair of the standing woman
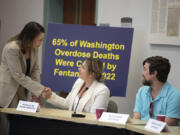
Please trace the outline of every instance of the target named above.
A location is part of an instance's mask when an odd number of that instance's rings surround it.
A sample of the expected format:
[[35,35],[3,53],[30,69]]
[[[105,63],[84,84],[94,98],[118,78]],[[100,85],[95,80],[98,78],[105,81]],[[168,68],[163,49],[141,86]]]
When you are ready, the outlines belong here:
[[40,33],[45,33],[44,27],[37,22],[29,22],[18,35],[12,37],[8,42],[17,41],[22,53],[25,54],[27,50],[32,48],[34,39]]

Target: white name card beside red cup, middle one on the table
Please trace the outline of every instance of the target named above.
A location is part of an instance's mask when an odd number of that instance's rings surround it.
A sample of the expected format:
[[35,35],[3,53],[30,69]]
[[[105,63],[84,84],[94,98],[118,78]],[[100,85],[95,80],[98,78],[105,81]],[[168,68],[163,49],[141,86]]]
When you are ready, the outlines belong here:
[[129,114],[103,112],[99,121],[125,125],[128,119]]

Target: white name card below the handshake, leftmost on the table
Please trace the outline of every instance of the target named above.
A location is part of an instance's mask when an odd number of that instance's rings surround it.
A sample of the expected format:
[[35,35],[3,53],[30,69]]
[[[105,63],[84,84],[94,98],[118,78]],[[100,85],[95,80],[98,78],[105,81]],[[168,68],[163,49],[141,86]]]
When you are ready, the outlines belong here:
[[16,110],[35,113],[36,111],[40,111],[40,106],[39,106],[39,103],[37,102],[29,102],[29,101],[20,100]]

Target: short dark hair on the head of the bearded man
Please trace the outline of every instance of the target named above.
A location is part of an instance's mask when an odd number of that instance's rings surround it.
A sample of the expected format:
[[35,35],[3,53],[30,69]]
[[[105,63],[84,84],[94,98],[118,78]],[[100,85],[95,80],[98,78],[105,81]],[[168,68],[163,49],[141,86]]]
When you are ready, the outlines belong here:
[[169,60],[162,56],[152,56],[143,61],[143,66],[145,63],[149,63],[149,73],[152,74],[157,71],[157,79],[160,82],[166,82],[168,74],[170,72],[171,64]]

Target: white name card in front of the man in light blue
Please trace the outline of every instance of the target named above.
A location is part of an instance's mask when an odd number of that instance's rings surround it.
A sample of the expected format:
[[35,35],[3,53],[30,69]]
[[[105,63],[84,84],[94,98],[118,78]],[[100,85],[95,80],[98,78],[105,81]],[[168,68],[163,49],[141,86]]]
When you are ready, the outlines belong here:
[[165,122],[158,121],[155,119],[149,119],[149,121],[147,122],[145,126],[145,129],[148,131],[155,132],[155,133],[160,133],[162,132],[163,129],[165,129],[166,131],[169,131],[167,124]]

